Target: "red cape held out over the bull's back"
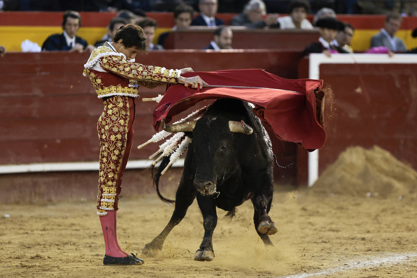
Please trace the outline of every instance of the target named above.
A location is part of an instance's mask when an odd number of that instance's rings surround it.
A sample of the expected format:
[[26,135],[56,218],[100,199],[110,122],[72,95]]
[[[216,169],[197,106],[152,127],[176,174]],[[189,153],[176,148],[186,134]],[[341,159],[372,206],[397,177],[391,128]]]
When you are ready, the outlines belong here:
[[173,116],[200,100],[237,98],[253,103],[255,114],[264,125],[270,125],[281,140],[300,143],[307,150],[319,149],[324,145],[326,133],[322,115],[322,80],[285,79],[260,69],[182,74],[184,77],[195,75],[210,85],[263,88],[205,87],[197,93],[196,89],[186,88],[182,84],[168,85],[165,95],[153,111],[156,130],[162,118],[169,123]]

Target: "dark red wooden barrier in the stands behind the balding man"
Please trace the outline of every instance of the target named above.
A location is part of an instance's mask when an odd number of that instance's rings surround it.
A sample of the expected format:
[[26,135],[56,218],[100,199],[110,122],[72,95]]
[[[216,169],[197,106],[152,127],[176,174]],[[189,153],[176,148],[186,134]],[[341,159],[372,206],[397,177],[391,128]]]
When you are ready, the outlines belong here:
[[[281,49],[303,51],[319,39],[318,30],[254,30],[234,28],[232,47],[235,49]],[[214,29],[191,27],[171,32],[165,40],[166,49],[202,49],[213,39]]]

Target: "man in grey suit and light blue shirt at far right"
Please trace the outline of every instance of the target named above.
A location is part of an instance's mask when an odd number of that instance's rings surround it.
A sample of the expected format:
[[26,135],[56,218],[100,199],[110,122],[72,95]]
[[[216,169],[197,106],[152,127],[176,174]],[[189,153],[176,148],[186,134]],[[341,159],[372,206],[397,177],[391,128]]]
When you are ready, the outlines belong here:
[[398,13],[391,13],[385,18],[384,28],[381,29],[381,32],[374,35],[371,39],[371,48],[385,46],[389,50],[394,52],[405,52],[407,47],[404,42],[395,37],[399,27],[401,26],[402,17]]

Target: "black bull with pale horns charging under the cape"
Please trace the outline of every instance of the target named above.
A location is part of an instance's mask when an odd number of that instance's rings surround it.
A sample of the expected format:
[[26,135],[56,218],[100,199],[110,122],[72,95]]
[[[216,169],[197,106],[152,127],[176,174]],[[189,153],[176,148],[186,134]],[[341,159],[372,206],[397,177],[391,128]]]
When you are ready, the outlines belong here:
[[[151,254],[162,250],[168,233],[184,218],[194,198],[197,198],[204,226],[203,241],[195,260],[214,258],[212,236],[217,224],[216,206],[228,211],[226,216],[232,218],[236,206],[248,199],[254,205],[256,232],[264,244],[272,245],[269,235],[277,232],[268,215],[274,189],[273,154],[269,136],[252,108],[241,100],[217,100],[198,121],[179,125],[164,128],[171,132],[185,131],[186,136],[193,139],[176,192],[175,209],[163,231],[146,244],[142,252]],[[154,178],[159,197],[171,201],[163,198],[158,190],[159,177],[167,163],[164,159]]]

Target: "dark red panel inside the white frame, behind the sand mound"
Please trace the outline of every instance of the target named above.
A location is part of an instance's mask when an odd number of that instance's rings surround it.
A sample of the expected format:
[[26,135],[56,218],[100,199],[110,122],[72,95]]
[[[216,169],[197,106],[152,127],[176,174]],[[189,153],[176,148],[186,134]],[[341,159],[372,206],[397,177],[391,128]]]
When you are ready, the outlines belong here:
[[[322,64],[337,107],[319,150],[321,173],[348,146],[378,145],[417,169],[417,63]],[[326,115],[326,114],[325,114]]]

